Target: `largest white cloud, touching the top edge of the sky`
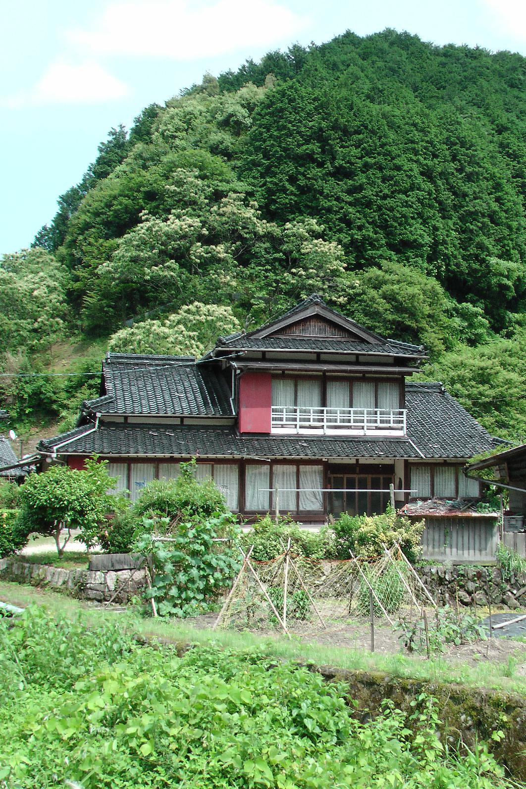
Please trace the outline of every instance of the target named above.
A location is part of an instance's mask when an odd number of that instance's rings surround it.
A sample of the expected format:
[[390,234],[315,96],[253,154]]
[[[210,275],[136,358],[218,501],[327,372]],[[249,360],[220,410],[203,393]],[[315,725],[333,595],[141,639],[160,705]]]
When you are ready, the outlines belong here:
[[98,54],[188,60],[269,47],[307,24],[279,0],[117,0],[94,28],[67,36]]

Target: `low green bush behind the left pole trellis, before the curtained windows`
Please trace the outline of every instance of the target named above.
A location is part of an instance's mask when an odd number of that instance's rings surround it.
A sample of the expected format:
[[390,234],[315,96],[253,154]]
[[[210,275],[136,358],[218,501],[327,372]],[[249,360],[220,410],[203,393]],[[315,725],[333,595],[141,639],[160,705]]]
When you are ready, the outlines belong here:
[[280,515],[278,523],[270,514],[260,516],[251,531],[242,535],[241,547],[247,551],[253,545],[252,559],[266,561],[283,553],[289,537],[293,553],[310,559],[334,558],[334,537],[330,529],[326,526],[319,532],[301,529],[289,515]]

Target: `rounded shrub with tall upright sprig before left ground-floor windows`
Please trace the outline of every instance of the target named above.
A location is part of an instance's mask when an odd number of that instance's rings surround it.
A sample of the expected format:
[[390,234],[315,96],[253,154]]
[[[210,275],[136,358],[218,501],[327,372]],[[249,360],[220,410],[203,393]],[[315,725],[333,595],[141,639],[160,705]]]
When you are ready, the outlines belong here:
[[217,512],[226,512],[222,492],[213,480],[196,480],[195,469],[195,460],[181,463],[181,475],[177,479],[149,482],[133,505],[134,513],[138,518],[151,515],[207,518]]

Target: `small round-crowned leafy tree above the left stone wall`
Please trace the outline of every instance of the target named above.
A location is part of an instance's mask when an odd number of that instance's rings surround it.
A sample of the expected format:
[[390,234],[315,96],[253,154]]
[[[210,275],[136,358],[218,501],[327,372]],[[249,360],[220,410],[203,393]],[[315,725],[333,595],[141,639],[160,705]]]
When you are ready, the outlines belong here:
[[[108,490],[117,480],[108,475],[107,465],[107,461],[90,458],[84,470],[51,466],[44,473],[28,477],[20,491],[17,533],[53,537],[59,556],[64,555],[72,529],[80,529],[79,539],[88,548],[95,544],[99,522],[115,507]],[[67,529],[67,537],[61,544],[63,529]]]

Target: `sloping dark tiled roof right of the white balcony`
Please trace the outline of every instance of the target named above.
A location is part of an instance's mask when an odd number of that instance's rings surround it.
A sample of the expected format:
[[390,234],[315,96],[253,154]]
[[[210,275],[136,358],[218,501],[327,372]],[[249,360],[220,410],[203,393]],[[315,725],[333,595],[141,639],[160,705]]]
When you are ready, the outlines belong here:
[[494,448],[494,441],[442,383],[405,384],[408,436],[425,458],[471,458]]

